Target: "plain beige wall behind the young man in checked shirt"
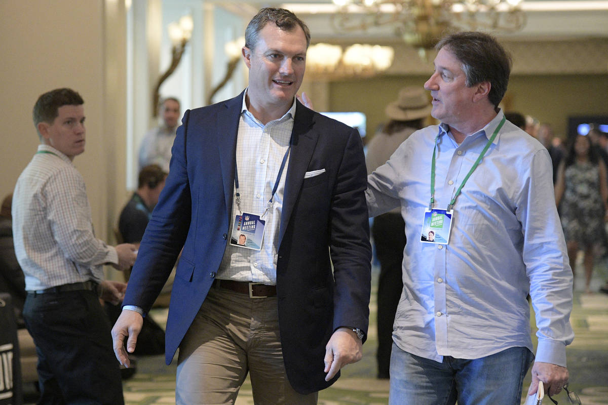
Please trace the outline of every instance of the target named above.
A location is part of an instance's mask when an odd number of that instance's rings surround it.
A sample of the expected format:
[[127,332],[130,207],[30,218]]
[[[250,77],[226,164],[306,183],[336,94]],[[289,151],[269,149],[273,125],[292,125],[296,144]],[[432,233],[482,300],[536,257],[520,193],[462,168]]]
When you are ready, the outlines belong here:
[[32,107],[71,87],[85,100],[85,178],[97,236],[109,240],[125,189],[125,47],[122,0],[0,1],[0,194],[15,186],[38,145]]

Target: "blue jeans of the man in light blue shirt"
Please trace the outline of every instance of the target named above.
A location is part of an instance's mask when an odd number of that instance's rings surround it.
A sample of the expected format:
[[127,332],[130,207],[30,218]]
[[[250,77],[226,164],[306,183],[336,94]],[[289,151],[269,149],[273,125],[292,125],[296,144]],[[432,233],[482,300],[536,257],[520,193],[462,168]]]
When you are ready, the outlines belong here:
[[389,405],[519,405],[533,359],[526,347],[511,347],[478,359],[444,356],[437,362],[393,344]]

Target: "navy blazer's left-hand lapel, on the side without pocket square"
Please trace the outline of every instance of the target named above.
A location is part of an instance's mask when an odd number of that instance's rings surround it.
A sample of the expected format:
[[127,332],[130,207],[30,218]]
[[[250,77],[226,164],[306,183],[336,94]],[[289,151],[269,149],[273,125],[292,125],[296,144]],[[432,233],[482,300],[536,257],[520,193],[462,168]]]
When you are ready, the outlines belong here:
[[238,123],[240,120],[241,106],[243,106],[244,91],[235,98],[224,103],[224,109],[220,109],[216,117],[217,145],[219,151],[219,166],[221,169],[222,185],[224,187],[224,199],[226,212],[230,217],[232,207],[232,194],[234,191],[234,168],[237,151]]

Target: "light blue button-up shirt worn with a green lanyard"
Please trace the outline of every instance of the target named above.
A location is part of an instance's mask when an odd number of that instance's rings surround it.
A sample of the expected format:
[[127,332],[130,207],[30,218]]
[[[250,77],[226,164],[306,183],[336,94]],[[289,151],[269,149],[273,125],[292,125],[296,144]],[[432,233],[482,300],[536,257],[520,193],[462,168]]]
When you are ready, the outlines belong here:
[[396,206],[406,222],[404,290],[393,339],[436,361],[474,359],[509,347],[536,361],[566,365],[572,342],[572,271],[553,193],[551,159],[541,143],[506,121],[454,205],[448,245],[421,242],[437,138],[434,208],[446,209],[504,114],[458,143],[446,124],[412,134],[368,177],[370,216]]

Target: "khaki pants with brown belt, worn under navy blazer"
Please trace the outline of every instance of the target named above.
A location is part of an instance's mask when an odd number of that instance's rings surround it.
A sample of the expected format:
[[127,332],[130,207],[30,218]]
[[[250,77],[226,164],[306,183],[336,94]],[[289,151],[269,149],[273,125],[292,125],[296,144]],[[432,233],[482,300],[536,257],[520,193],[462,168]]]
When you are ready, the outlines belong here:
[[297,393],[287,379],[277,297],[212,287],[179,347],[176,403],[233,404],[247,372],[255,404],[317,403],[317,393]]

